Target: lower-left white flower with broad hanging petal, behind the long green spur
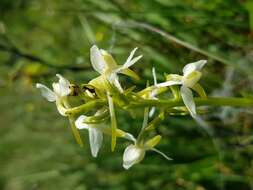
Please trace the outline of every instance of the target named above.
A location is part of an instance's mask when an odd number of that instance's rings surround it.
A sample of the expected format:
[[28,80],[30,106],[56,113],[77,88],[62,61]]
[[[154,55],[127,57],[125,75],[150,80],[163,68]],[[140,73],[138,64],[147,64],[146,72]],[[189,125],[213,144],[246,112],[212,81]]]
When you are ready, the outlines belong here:
[[[98,111],[95,115],[99,115]],[[104,124],[87,124],[87,116],[81,115],[77,118],[75,125],[78,129],[87,129],[89,131],[89,142],[91,154],[93,157],[97,157],[97,154],[103,143],[103,133],[111,135],[111,129],[106,127]],[[116,136],[122,137],[135,142],[135,138],[130,134],[126,133],[120,129],[116,130]]]

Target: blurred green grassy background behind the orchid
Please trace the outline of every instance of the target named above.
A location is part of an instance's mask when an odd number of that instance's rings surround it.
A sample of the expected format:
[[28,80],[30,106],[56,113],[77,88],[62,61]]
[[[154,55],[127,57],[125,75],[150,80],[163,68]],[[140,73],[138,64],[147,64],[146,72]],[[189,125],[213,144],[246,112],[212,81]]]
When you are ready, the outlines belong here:
[[[97,76],[89,48],[97,44],[119,63],[134,47],[134,70],[144,87],[184,64],[208,59],[201,84],[210,96],[253,94],[251,0],[0,0],[0,189],[253,189],[253,110],[210,108],[203,115],[215,138],[189,117],[168,117],[157,133],[168,162],[148,152],[130,170],[128,145],[114,153],[106,139],[97,159],[74,141],[66,118],[35,89],[61,73],[72,82]],[[137,133],[141,116],[118,114],[122,129]],[[129,122],[131,121],[131,122]],[[216,146],[214,146],[216,144]]]

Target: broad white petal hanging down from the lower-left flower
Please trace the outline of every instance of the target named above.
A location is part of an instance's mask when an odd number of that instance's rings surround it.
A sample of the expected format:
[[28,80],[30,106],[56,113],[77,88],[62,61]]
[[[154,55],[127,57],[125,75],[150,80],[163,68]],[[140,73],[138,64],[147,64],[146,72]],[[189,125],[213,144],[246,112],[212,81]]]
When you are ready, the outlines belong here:
[[90,149],[93,157],[97,157],[98,151],[103,143],[103,133],[97,129],[89,128]]

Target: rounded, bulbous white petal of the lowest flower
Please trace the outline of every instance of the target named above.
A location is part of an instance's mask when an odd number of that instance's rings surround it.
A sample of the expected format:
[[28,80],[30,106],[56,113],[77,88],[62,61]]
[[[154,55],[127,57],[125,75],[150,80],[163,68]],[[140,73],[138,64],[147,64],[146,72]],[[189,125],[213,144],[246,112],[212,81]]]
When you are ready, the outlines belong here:
[[129,145],[123,154],[123,167],[129,169],[134,164],[139,163],[145,156],[145,150],[136,145]]

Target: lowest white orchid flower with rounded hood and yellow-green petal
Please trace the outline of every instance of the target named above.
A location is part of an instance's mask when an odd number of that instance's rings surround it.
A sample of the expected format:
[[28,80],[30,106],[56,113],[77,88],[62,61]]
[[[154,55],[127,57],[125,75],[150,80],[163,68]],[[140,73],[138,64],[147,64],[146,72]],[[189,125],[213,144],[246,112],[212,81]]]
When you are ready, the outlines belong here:
[[148,150],[152,150],[152,151],[157,152],[158,154],[161,154],[167,160],[172,160],[171,158],[166,156],[164,153],[154,148],[160,142],[160,140],[161,140],[161,136],[157,135],[153,137],[152,139],[148,140],[147,142],[145,142],[144,144],[135,141],[135,144],[129,145],[125,149],[124,154],[123,154],[123,167],[125,169],[129,169],[134,164],[141,162],[145,157],[146,151]]

